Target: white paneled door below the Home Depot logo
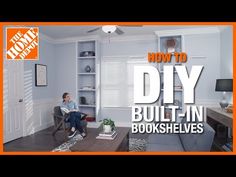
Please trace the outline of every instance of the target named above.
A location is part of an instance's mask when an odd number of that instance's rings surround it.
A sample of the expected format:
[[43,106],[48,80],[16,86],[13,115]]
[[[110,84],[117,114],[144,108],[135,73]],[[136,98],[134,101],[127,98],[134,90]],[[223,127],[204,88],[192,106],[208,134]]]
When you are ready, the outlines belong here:
[[24,63],[4,60],[4,143],[23,136]]

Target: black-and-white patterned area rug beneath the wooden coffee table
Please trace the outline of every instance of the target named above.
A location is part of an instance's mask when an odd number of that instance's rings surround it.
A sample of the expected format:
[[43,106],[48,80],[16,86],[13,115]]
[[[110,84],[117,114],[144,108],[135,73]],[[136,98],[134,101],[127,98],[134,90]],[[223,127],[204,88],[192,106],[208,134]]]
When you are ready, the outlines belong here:
[[[61,144],[52,150],[52,152],[70,152],[70,147],[73,146],[77,141],[82,140],[83,137],[77,134],[67,142]],[[144,152],[146,151],[147,141],[145,139],[130,138],[129,139],[129,151],[130,152]]]

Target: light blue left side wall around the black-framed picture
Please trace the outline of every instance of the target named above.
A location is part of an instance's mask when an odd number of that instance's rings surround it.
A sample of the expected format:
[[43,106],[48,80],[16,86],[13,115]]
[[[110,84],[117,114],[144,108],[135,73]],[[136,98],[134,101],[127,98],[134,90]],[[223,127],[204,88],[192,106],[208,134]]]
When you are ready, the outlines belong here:
[[[55,47],[53,44],[39,38],[39,60],[25,61],[25,73],[31,73],[32,76],[32,96],[34,100],[53,98],[55,96]],[[47,65],[47,82],[46,87],[35,86],[35,64]]]

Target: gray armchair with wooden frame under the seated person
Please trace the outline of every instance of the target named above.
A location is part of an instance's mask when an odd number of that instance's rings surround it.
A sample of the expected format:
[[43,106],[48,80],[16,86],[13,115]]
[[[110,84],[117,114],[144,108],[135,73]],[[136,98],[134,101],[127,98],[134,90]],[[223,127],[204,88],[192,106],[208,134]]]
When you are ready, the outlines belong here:
[[[86,121],[86,116],[87,114],[80,112],[82,117],[81,117],[81,126],[84,130],[84,132],[87,134],[87,121]],[[65,133],[67,133],[67,122],[66,119],[68,118],[69,114],[63,115],[61,112],[60,106],[55,106],[54,107],[54,112],[53,112],[53,119],[54,119],[54,130],[52,132],[52,135],[54,136],[58,130],[61,128]]]

